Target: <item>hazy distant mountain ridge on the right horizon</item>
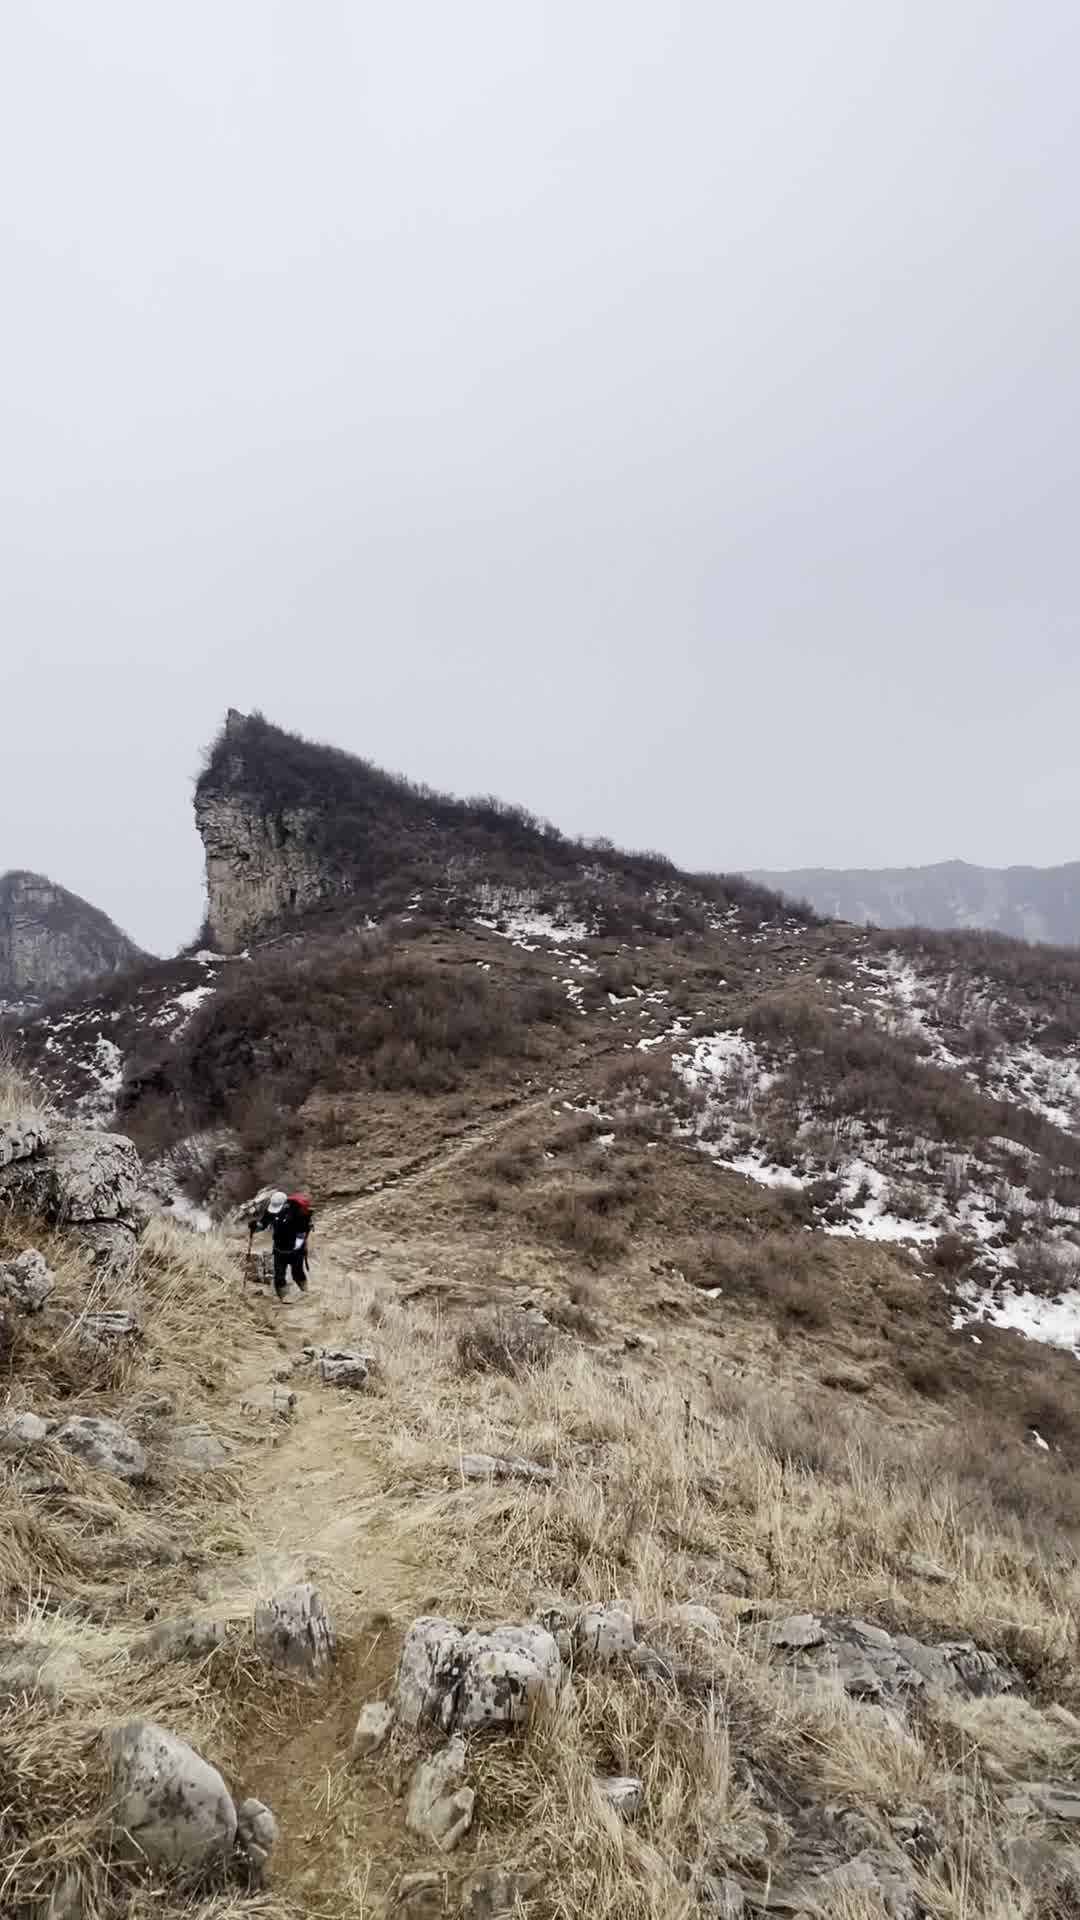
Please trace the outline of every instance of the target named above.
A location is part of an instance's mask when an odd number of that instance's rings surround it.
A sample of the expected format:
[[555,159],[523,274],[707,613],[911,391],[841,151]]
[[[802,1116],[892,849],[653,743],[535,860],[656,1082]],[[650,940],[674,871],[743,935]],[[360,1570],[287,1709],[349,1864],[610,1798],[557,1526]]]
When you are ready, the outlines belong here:
[[748,874],[830,920],[878,927],[980,927],[1024,941],[1080,943],[1080,860],[1067,866],[798,868]]

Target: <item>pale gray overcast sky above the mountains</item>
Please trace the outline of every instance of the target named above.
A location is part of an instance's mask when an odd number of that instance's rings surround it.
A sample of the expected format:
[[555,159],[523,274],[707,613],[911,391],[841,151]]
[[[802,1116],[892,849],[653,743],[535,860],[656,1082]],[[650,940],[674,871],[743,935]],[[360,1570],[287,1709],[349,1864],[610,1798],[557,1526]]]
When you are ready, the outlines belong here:
[[229,705],[692,866],[1080,856],[1076,0],[0,4],[0,870]]

